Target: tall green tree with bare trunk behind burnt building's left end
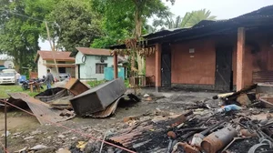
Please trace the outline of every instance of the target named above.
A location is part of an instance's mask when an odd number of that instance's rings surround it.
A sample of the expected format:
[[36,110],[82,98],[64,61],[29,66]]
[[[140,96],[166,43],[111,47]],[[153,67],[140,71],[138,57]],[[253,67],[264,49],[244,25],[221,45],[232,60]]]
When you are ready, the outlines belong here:
[[[115,30],[122,27],[122,31],[118,31],[121,34],[120,38],[134,37],[138,39],[146,30],[143,27],[146,26],[145,23],[149,17],[153,15],[160,17],[169,12],[167,6],[161,0],[93,0],[93,2],[94,4],[105,5],[106,9],[102,14],[106,16],[106,23],[116,23],[117,28]],[[129,29],[124,28],[122,25],[124,22],[128,23]],[[134,55],[131,55],[131,58],[134,59]],[[132,65],[134,63],[132,62]],[[137,64],[139,74],[143,74],[144,59],[138,54]],[[136,69],[136,67],[134,68]]]

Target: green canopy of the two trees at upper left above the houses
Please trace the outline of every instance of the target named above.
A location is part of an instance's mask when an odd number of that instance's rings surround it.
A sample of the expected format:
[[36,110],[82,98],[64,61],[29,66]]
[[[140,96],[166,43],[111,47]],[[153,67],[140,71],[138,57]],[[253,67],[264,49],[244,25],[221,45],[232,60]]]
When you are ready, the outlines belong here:
[[45,21],[58,48],[73,51],[101,36],[91,0],[0,0],[0,53],[14,56],[15,65],[35,69],[38,39],[47,40]]

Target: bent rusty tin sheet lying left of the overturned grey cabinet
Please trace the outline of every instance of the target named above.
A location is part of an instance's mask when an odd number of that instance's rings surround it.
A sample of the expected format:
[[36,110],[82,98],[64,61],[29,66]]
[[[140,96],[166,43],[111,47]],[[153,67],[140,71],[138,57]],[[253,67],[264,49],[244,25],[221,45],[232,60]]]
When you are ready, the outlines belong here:
[[[10,96],[8,102],[13,103],[13,101],[22,100],[24,101],[31,111],[35,114],[35,117],[38,119],[40,124],[45,125],[49,123],[47,120],[51,122],[57,123],[61,121],[66,121],[71,119],[72,117],[61,117],[60,114],[62,113],[61,110],[53,109],[48,104],[35,99],[34,97],[29,97],[25,93],[9,93]],[[42,119],[44,117],[45,119]]]

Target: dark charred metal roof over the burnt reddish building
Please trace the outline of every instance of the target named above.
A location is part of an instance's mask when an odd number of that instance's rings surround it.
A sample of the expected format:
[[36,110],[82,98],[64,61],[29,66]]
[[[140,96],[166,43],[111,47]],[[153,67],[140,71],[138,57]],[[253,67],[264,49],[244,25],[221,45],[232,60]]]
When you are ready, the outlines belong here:
[[[273,25],[273,5],[260,8],[245,15],[239,15],[227,20],[201,21],[191,28],[181,28],[175,31],[163,31],[147,36],[147,46],[158,42],[173,42],[188,39],[196,39],[204,36],[222,34],[237,30],[238,27],[270,26]],[[125,45],[108,46],[110,49],[126,48]]]

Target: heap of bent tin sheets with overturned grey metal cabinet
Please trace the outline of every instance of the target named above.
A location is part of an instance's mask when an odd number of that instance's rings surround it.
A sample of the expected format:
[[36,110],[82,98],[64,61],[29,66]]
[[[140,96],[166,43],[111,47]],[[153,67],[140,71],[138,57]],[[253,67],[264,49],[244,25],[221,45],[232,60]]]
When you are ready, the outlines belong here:
[[[66,87],[55,87],[29,97],[24,93],[9,93],[6,99],[8,108],[27,108],[37,117],[40,124],[57,123],[72,117],[109,117],[116,111],[117,104],[126,87],[122,79],[115,79],[94,88],[75,78],[71,78]],[[139,101],[134,95],[130,99]],[[4,101],[3,101],[4,102]]]

